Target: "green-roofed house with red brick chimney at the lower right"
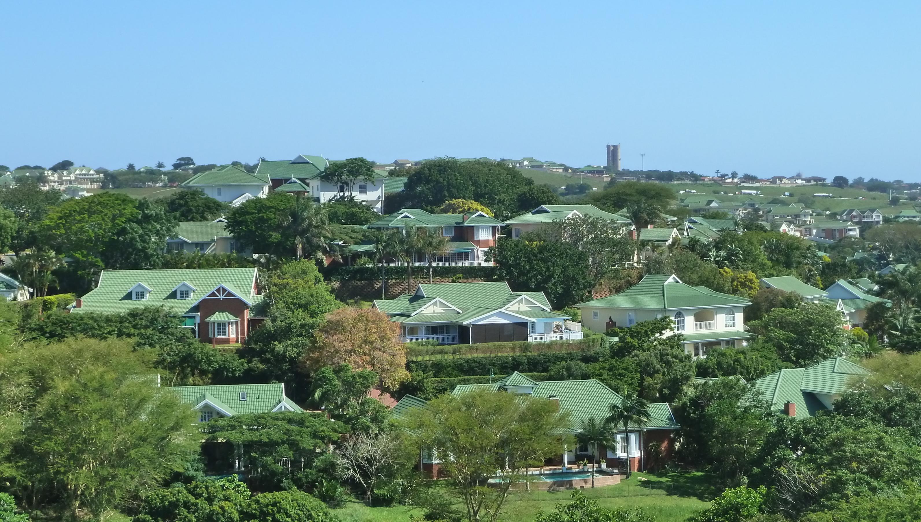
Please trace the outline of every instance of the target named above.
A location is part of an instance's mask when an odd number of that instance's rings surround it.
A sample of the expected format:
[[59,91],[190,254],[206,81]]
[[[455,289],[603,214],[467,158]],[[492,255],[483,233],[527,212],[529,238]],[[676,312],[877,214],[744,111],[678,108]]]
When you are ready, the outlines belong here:
[[868,375],[867,369],[832,357],[807,368],[775,371],[752,384],[771,403],[771,410],[802,419],[832,410],[835,401]]

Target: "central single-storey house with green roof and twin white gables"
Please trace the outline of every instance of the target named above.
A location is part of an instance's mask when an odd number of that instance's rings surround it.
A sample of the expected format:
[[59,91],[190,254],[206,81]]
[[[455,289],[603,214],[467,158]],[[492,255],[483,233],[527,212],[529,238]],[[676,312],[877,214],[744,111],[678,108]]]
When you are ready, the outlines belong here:
[[552,312],[543,292],[513,292],[508,283],[421,284],[413,294],[374,301],[374,308],[401,324],[403,342],[440,345],[556,341],[582,338],[570,319]]

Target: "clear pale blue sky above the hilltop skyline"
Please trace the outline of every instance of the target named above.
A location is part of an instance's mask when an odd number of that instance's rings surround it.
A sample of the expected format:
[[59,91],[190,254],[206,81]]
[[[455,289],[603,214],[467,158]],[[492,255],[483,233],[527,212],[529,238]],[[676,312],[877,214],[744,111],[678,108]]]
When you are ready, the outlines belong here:
[[535,156],[921,180],[921,4],[6,2],[0,164]]

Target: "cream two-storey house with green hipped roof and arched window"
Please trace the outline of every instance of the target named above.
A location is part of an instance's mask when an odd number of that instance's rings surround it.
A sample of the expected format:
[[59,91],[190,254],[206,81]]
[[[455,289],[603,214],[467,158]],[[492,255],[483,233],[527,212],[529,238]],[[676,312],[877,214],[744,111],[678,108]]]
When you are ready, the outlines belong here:
[[675,275],[647,274],[619,294],[577,304],[582,324],[593,332],[669,317],[673,333],[684,335],[684,351],[706,357],[716,347],[747,346],[742,310],[751,301],[706,287],[692,287]]

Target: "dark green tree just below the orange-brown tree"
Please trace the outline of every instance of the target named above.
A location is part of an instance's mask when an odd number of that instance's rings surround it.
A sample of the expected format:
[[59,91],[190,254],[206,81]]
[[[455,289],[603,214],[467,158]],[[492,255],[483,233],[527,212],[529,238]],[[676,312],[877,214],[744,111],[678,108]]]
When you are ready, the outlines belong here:
[[387,407],[367,395],[378,382],[378,374],[369,369],[326,366],[313,374],[310,401],[353,433],[373,433],[384,426],[388,416]]

